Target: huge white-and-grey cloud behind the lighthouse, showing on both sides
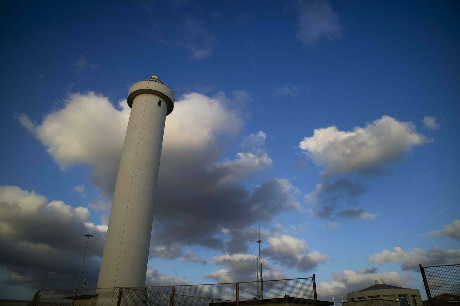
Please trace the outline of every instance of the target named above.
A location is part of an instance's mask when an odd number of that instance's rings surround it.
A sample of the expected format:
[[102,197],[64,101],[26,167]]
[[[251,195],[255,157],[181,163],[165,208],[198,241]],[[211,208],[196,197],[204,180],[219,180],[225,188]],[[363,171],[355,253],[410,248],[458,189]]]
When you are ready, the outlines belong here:
[[[184,247],[192,245],[231,252],[236,241],[229,244],[230,233],[255,220],[270,222],[283,211],[303,210],[288,179],[264,179],[253,188],[242,184],[273,164],[264,132],[244,137],[235,158],[223,154],[236,144],[250,100],[239,90],[231,97],[188,93],[176,102],[166,120],[150,256],[187,258]],[[115,108],[108,98],[89,92],[64,102],[39,123],[24,114],[18,118],[61,168],[90,166],[93,186],[110,203],[129,117],[126,101]]]

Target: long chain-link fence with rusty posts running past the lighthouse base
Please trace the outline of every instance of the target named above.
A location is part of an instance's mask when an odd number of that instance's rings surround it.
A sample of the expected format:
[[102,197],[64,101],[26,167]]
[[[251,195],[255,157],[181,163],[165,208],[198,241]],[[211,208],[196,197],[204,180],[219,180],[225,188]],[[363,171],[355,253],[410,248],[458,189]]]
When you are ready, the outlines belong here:
[[246,306],[279,303],[317,306],[315,276],[142,288],[43,289],[35,294],[30,306]]

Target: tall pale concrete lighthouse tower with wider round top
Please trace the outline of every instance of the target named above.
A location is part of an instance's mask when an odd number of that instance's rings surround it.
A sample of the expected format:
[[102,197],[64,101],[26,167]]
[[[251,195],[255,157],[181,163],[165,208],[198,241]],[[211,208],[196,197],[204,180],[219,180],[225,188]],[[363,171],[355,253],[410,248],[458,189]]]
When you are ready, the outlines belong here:
[[143,287],[166,116],[174,94],[157,75],[129,89],[131,107],[98,288]]

